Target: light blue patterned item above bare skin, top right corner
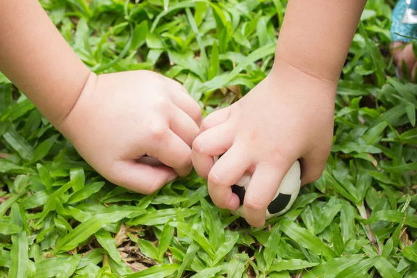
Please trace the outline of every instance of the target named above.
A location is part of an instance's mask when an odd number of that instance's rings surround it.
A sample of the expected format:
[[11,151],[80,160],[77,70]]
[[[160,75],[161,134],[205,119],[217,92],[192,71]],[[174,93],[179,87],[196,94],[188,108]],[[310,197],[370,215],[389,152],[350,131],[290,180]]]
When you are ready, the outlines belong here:
[[[407,0],[399,0],[393,8],[391,38],[395,42],[412,42],[414,41],[413,38],[417,38],[417,24],[405,24],[402,22],[407,8],[417,12],[417,0],[411,0],[409,6],[407,5]],[[404,38],[402,35],[412,38]]]

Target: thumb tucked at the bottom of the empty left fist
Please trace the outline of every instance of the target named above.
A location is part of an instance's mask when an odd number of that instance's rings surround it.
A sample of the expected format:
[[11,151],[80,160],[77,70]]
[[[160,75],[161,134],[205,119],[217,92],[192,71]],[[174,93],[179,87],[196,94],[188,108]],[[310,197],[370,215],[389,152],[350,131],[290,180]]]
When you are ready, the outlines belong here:
[[111,177],[107,179],[118,186],[149,195],[176,178],[177,174],[167,166],[121,161],[114,165]]

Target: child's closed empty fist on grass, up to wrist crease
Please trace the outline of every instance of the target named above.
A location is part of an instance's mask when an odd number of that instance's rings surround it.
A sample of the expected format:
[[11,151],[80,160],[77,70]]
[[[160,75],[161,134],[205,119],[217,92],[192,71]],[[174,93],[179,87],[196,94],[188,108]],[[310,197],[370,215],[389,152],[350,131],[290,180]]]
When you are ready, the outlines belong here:
[[[181,84],[143,70],[91,74],[57,128],[106,179],[149,194],[190,172],[201,120],[199,105]],[[140,160],[145,155],[165,165],[149,165]]]

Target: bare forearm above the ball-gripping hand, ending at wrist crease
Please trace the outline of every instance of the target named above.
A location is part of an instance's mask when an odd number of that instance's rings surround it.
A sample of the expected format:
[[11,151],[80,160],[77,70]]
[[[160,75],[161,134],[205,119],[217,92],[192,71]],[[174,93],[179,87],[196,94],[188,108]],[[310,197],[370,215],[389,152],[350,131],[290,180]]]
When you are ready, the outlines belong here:
[[289,0],[275,63],[337,83],[366,0]]

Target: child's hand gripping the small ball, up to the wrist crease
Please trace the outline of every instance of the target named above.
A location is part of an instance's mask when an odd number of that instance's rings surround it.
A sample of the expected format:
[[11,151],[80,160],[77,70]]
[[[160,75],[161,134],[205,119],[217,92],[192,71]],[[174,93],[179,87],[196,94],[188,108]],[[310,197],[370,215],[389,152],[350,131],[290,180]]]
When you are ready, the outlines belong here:
[[[280,66],[243,99],[208,115],[193,142],[193,164],[208,179],[213,202],[236,210],[239,199],[230,186],[245,171],[253,174],[245,219],[262,227],[268,204],[297,158],[302,184],[316,181],[332,145],[335,92],[335,83]],[[224,152],[213,165],[213,156]]]

